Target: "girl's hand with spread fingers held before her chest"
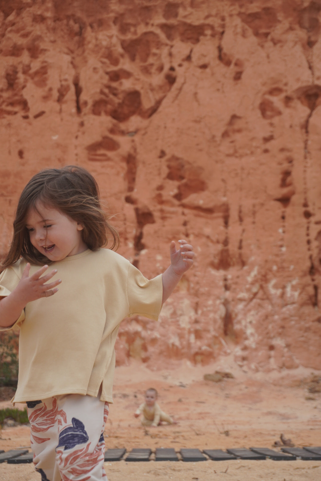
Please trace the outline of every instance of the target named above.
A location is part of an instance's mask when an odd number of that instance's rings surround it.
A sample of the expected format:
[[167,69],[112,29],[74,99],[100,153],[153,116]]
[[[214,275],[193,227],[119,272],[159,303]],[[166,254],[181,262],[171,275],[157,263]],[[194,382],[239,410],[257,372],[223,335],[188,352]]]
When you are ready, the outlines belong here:
[[19,293],[19,298],[27,304],[31,301],[36,301],[40,297],[49,297],[58,291],[58,284],[61,283],[61,279],[55,280],[49,284],[45,284],[49,279],[51,279],[56,273],[57,269],[53,269],[49,274],[45,276],[41,275],[48,269],[48,266],[43,266],[35,274],[29,277],[30,264],[27,263],[25,266],[22,278],[19,284],[15,288],[16,294]]

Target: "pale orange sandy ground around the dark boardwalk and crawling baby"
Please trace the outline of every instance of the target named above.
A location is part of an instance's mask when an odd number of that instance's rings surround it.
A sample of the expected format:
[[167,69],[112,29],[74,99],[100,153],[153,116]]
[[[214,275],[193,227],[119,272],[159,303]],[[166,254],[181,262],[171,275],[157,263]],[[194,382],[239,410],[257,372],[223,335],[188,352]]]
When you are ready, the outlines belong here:
[[[234,379],[204,380],[216,369]],[[321,374],[314,371],[315,374]],[[171,370],[151,371],[132,362],[117,367],[114,404],[105,430],[109,448],[173,447],[226,449],[272,447],[284,433],[296,446],[321,445],[321,393],[309,392],[311,370],[247,373],[228,358],[215,365],[192,367],[177,363]],[[144,429],[134,418],[148,387],[159,391],[159,404],[177,425]],[[10,405],[1,402],[0,407]],[[30,447],[27,426],[5,427],[0,449]],[[110,481],[320,480],[321,461],[204,461],[105,463]],[[40,481],[32,465],[0,464],[1,481]]]

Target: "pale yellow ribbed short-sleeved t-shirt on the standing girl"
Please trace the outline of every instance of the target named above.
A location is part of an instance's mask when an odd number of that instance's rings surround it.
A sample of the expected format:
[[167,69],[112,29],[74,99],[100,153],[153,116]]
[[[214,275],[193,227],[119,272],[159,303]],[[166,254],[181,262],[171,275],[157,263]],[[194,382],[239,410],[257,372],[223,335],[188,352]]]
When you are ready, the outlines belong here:
[[[21,279],[20,259],[0,274],[0,296]],[[31,266],[32,276],[39,266]],[[112,402],[114,345],[124,317],[157,320],[162,300],[161,275],[148,280],[129,261],[109,250],[89,249],[50,264],[61,278],[59,291],[25,306],[17,322],[18,388],[13,403],[60,394],[97,396]],[[4,328],[2,328],[3,330]]]

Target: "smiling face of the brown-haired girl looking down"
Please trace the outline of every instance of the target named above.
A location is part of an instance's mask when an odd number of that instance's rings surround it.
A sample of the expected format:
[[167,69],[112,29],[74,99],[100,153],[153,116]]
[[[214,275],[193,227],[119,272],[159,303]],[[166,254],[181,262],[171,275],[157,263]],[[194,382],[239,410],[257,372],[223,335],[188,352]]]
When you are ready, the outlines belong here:
[[36,208],[28,212],[26,228],[37,251],[53,262],[86,251],[81,224],[42,202],[37,201]]

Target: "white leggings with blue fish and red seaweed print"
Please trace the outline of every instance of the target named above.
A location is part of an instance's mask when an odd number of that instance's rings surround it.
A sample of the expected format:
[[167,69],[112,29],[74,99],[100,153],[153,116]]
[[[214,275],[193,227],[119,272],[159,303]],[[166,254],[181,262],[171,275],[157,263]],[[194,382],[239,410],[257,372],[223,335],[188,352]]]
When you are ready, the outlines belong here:
[[27,402],[27,411],[33,462],[41,481],[107,481],[107,402],[67,394]]

